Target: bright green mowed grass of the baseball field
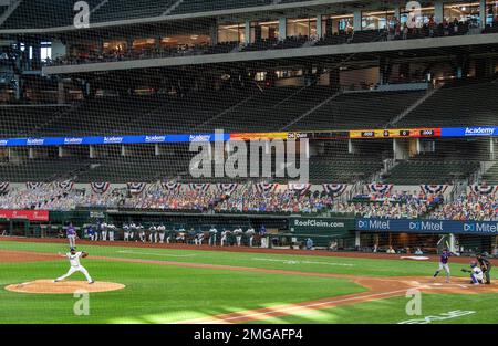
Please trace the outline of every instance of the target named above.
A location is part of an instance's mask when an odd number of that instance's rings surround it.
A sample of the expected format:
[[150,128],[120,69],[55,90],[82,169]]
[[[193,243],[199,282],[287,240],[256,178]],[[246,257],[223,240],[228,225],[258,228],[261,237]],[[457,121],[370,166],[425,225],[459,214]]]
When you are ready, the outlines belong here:
[[[60,243],[1,241],[1,250],[65,252]],[[0,290],[0,323],[175,323],[222,313],[364,292],[347,280],[259,272],[196,269],[146,263],[91,260],[92,255],[137,260],[224,264],[301,272],[371,276],[432,275],[434,262],[402,260],[304,256],[272,253],[242,253],[149,248],[85,245],[90,253],[83,264],[97,281],[118,282],[126,289],[92,293],[91,315],[75,316],[72,295],[22,294]],[[68,262],[0,263],[0,285],[53,279],[68,270]],[[464,275],[452,264],[455,275]],[[495,273],[496,275],[496,273]],[[81,274],[73,276],[83,280]],[[498,294],[424,294],[424,314],[453,310],[475,310],[446,323],[498,322],[492,308]],[[386,298],[322,311],[264,319],[262,323],[398,323],[407,298]]]

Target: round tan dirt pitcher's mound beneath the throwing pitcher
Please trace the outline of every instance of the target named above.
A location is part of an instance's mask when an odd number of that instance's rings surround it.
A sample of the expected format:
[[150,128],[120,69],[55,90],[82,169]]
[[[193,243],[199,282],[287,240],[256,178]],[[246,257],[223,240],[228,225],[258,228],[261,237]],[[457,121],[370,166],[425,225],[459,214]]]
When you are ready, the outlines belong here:
[[95,281],[89,284],[86,281],[61,281],[35,280],[25,283],[12,284],[6,286],[7,291],[21,293],[46,293],[46,294],[73,294],[76,291],[108,292],[124,289],[125,285],[114,282]]

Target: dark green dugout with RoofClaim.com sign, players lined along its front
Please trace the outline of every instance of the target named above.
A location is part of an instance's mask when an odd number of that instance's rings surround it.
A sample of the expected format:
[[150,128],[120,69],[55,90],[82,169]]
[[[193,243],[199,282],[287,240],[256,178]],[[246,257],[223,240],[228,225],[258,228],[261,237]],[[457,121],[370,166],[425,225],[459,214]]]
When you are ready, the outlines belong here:
[[[85,238],[85,228],[98,221],[112,222],[116,226],[116,240],[123,239],[123,224],[131,222],[142,224],[145,230],[148,230],[152,224],[162,223],[167,232],[185,229],[187,233],[198,231],[207,233],[211,226],[215,226],[219,233],[224,229],[234,230],[238,227],[245,231],[252,227],[258,232],[264,226],[270,247],[303,248],[307,239],[311,238],[315,248],[329,248],[335,244],[335,250],[355,250],[354,233],[351,233],[354,229],[353,218],[317,218],[258,212],[205,213],[201,211],[137,211],[136,209],[54,211],[50,213],[50,221],[41,224],[41,230],[32,237],[63,237],[65,227],[71,222],[79,235]],[[259,241],[259,237],[256,235],[255,240]],[[230,235],[228,242],[234,244],[235,237]],[[247,239],[243,238],[242,242],[247,244]]]

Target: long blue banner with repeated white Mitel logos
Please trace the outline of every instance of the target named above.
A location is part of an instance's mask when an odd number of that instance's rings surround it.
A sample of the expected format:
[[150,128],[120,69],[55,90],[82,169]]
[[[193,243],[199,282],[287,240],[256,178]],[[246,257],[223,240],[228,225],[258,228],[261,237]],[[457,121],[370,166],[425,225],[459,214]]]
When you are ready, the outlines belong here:
[[356,219],[357,231],[498,235],[498,221]]

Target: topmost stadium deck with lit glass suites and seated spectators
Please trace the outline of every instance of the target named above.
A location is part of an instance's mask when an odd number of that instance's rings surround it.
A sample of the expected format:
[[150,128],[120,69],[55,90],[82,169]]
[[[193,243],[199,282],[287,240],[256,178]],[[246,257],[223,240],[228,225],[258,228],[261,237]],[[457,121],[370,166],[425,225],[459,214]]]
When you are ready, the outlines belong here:
[[[0,35],[33,56],[51,42],[56,53],[46,63],[65,66],[45,74],[129,70],[489,45],[497,42],[497,3],[423,1],[417,10],[404,1],[91,0],[89,28],[76,29],[72,1],[12,1]],[[425,38],[434,40],[416,40]]]

